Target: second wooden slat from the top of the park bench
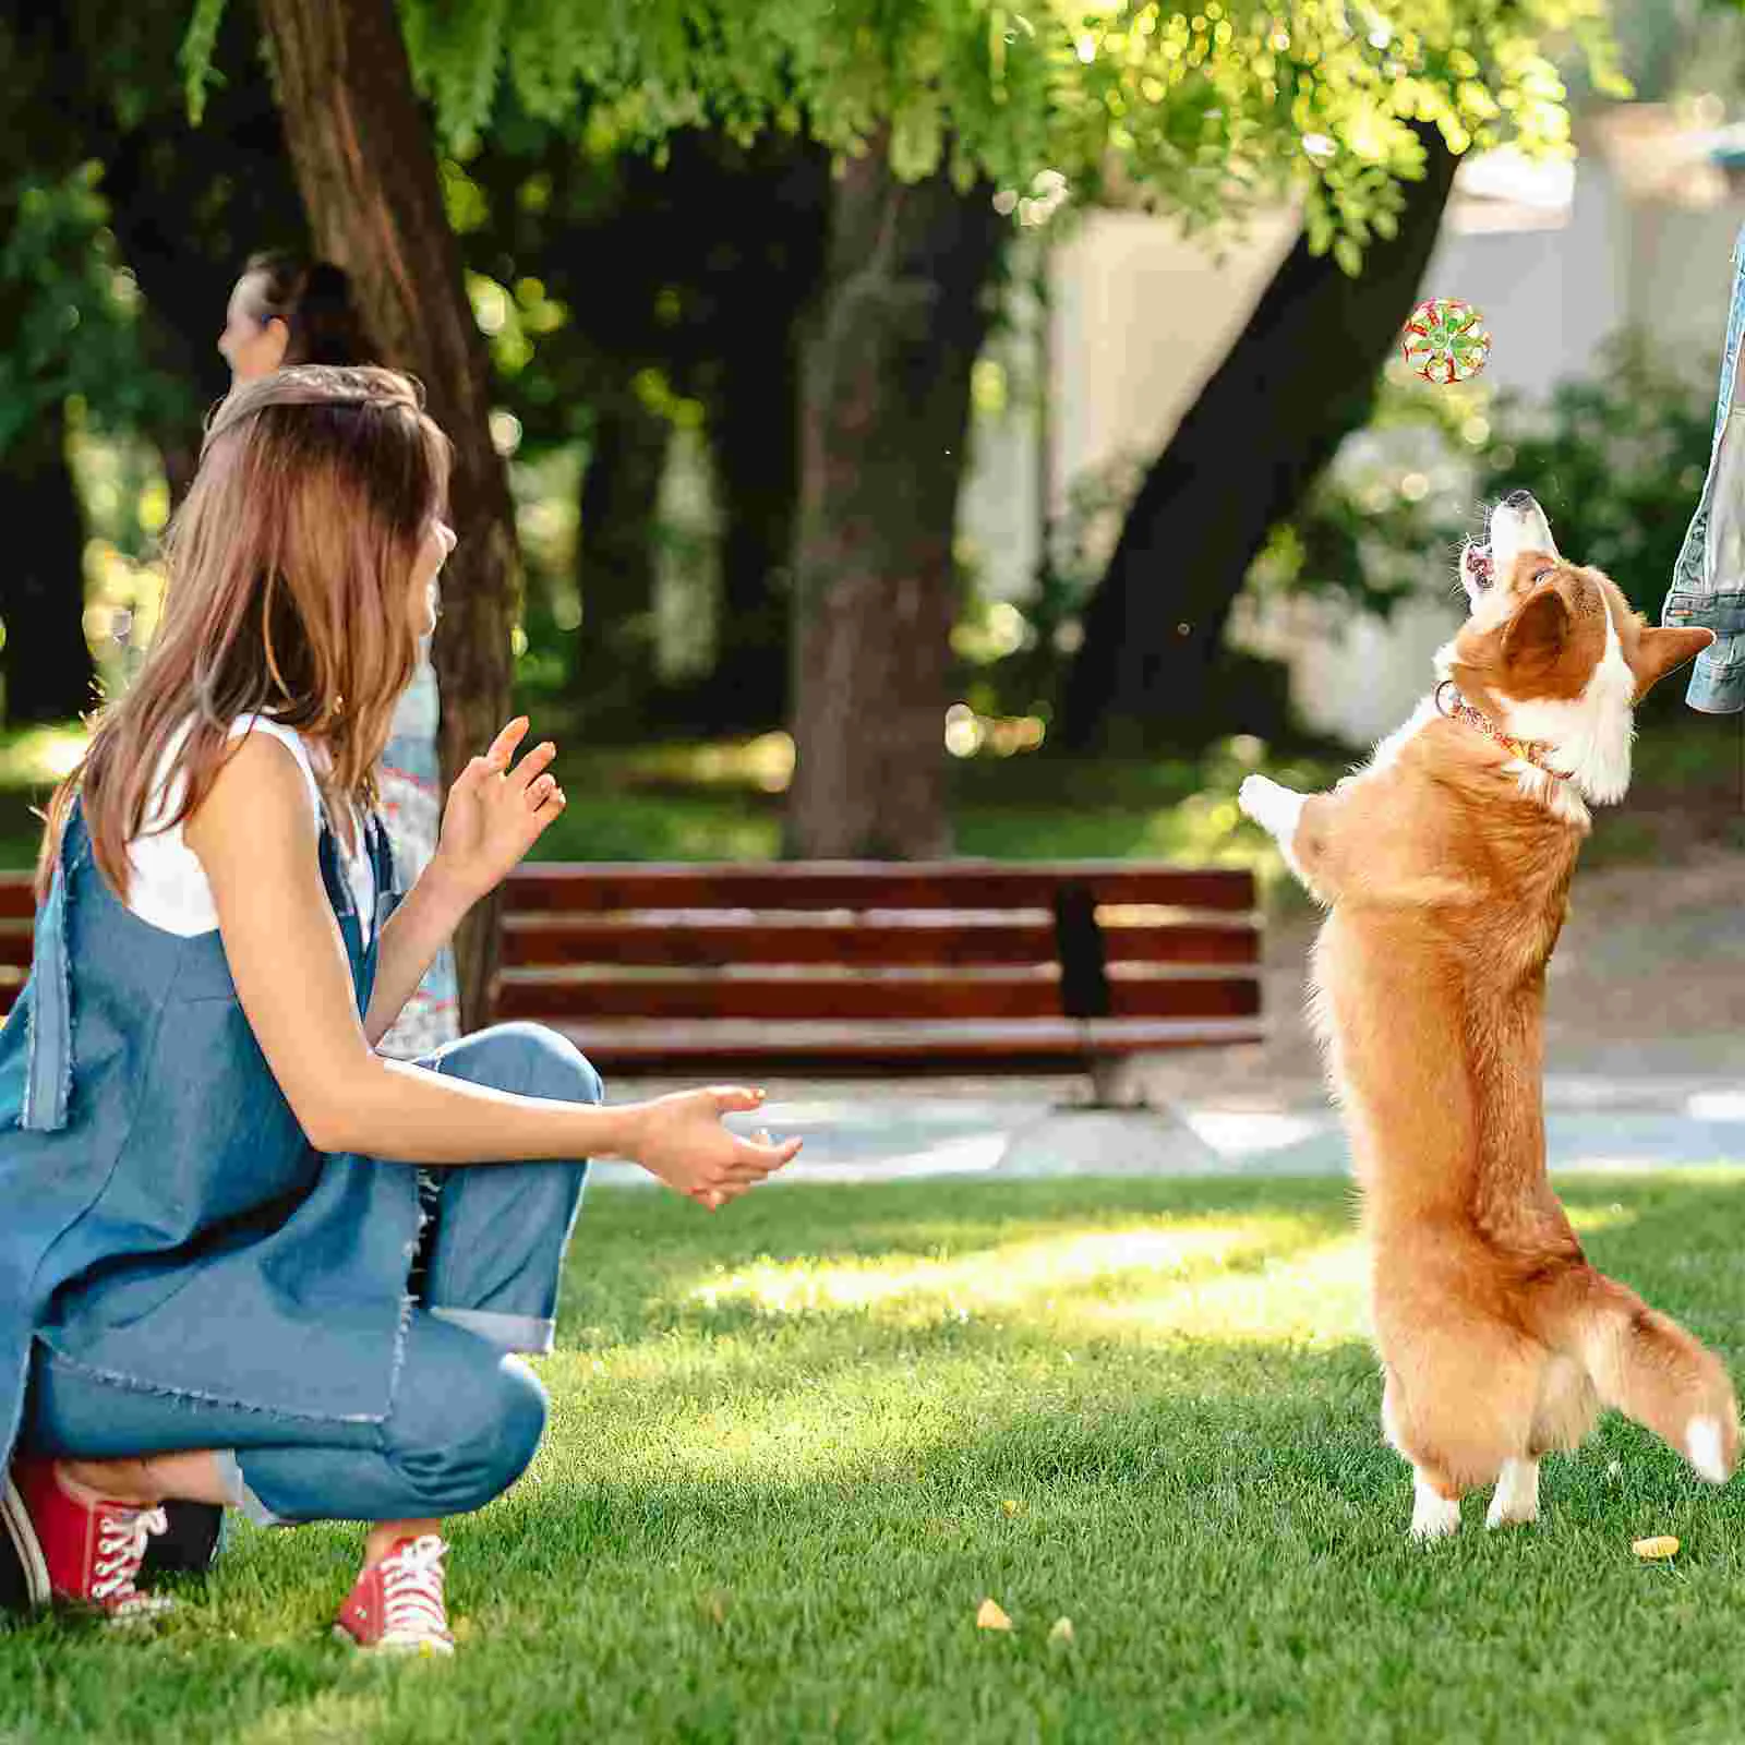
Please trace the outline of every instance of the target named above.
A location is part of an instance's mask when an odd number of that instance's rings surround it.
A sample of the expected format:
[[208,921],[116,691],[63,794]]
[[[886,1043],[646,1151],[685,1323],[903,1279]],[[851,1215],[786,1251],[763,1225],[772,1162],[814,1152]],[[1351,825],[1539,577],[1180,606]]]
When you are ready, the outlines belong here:
[[[867,920],[656,920],[653,916],[511,916],[503,934],[506,968],[611,963],[647,968],[719,968],[749,963],[902,965],[1054,963],[1050,921]],[[1249,920],[1105,927],[1110,963],[1222,963],[1260,958]]]

